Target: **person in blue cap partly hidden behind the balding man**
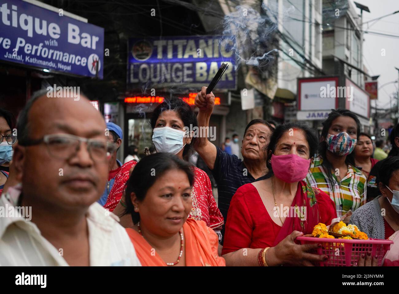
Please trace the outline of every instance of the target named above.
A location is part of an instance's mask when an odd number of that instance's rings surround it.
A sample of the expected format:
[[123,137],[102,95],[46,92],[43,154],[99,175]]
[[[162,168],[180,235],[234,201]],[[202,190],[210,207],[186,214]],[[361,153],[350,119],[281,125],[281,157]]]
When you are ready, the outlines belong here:
[[107,179],[107,184],[105,185],[105,190],[103,192],[103,195],[101,195],[101,198],[98,203],[100,203],[102,206],[105,205],[107,202],[107,198],[109,195],[109,192],[112,189],[112,186],[114,185],[115,182],[115,176],[117,173],[120,171],[120,167],[122,166],[122,163],[117,159],[117,151],[122,144],[122,129],[119,127],[119,125],[116,125],[115,123],[108,122],[107,123],[107,130],[106,131],[106,136],[107,139],[110,143],[115,144],[115,149],[111,153],[108,161],[108,179]]

